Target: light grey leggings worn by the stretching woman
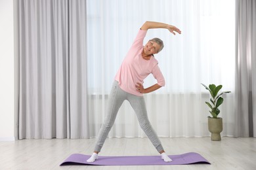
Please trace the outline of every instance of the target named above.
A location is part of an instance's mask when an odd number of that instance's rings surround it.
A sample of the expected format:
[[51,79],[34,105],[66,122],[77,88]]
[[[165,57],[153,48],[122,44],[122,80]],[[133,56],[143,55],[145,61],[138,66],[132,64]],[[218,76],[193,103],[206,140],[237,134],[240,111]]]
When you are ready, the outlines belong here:
[[140,127],[146,133],[151,143],[156,147],[156,150],[158,150],[158,152],[163,150],[163,146],[161,145],[161,141],[159,140],[158,135],[156,135],[156,132],[148,121],[144,97],[133,95],[121,90],[121,88],[119,88],[118,82],[115,80],[110,92],[110,99],[108,99],[108,110],[106,118],[100,128],[100,132],[98,133],[95,151],[100,152],[104,141],[108,137],[108,133],[110,132],[110,129],[116,120],[117,112],[125,99],[129,101],[131,107],[133,107],[135,110]]

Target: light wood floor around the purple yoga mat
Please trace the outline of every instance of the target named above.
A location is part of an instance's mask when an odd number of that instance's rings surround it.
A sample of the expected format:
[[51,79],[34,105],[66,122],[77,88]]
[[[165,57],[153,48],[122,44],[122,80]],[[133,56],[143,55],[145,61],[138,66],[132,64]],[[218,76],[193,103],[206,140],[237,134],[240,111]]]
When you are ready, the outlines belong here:
[[[167,154],[198,152],[211,165],[62,166],[70,154],[91,154],[95,139],[40,139],[0,142],[0,169],[256,169],[256,138],[160,138]],[[147,138],[107,139],[101,156],[158,155]]]

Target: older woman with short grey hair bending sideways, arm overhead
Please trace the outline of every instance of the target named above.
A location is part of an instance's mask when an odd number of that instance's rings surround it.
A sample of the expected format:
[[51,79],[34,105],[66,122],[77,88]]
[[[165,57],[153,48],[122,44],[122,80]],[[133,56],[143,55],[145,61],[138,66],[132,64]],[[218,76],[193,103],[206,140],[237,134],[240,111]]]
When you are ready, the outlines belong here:
[[[154,38],[143,46],[143,40],[148,29],[153,28],[168,29],[173,33],[173,35],[175,35],[175,32],[181,34],[181,31],[177,27],[160,22],[145,22],[139,29],[139,33],[137,33],[135,41],[133,41],[133,44],[125,56],[121,67],[117,71],[112,85],[112,90],[110,92],[106,118],[98,133],[93,155],[87,160],[88,162],[93,162],[98,159],[98,152],[100,152],[104,141],[108,137],[108,133],[116,119],[117,112],[125,100],[129,101],[131,107],[135,110],[140,127],[146,133],[156,150],[160,152],[161,159],[163,161],[172,161],[163,150],[163,146],[161,145],[158,135],[156,135],[156,132],[148,121],[146,105],[143,97],[143,93],[154,92],[162,86],[165,86],[165,79],[158,67],[158,61],[154,58],[154,54],[158,54],[158,52],[163,49],[163,41],[161,41],[161,39]],[[143,80],[150,74],[156,78],[158,83],[148,88],[144,88]]]

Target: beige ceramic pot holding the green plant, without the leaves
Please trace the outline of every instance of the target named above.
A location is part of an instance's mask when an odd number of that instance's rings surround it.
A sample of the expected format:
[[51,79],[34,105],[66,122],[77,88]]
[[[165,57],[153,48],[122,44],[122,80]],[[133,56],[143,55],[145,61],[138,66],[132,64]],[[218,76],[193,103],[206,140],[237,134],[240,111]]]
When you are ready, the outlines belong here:
[[208,129],[211,132],[211,141],[221,141],[223,118],[208,118]]

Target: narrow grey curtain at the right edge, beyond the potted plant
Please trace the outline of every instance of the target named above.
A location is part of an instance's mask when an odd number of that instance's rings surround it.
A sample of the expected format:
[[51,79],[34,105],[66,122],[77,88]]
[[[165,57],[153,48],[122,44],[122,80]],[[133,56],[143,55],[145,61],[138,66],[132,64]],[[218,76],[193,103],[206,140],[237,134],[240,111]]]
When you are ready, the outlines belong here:
[[256,2],[236,0],[236,137],[256,137]]

